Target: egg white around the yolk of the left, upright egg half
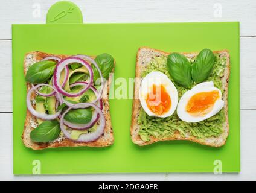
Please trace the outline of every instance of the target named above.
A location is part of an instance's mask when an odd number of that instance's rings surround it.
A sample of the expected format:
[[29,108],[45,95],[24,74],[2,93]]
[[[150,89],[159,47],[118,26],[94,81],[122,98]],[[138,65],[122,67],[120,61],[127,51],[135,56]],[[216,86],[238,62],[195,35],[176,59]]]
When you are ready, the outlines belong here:
[[[156,115],[149,109],[149,107],[147,107],[146,99],[148,93],[150,93],[150,89],[152,89],[153,84],[155,84],[156,86],[164,86],[166,92],[171,98],[170,109],[168,110],[168,112],[165,112],[162,115]],[[141,101],[141,106],[147,113],[147,115],[165,118],[173,115],[174,111],[176,110],[178,104],[178,91],[174,86],[173,82],[167,77],[167,75],[162,72],[150,72],[141,81],[141,86],[139,87],[139,100]]]

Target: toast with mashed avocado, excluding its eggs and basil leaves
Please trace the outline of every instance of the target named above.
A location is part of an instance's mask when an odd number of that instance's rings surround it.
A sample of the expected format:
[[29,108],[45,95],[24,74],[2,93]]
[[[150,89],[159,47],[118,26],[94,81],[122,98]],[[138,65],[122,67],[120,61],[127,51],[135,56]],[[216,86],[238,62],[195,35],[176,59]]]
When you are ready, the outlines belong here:
[[[220,147],[225,144],[229,133],[228,124],[228,81],[230,72],[229,52],[213,51],[216,61],[213,71],[206,81],[213,81],[214,85],[222,91],[222,100],[225,102],[219,113],[201,122],[188,123],[179,119],[176,112],[167,118],[148,116],[142,109],[138,99],[141,80],[153,71],[167,75],[167,57],[170,53],[152,48],[139,48],[136,59],[135,87],[132,107],[132,124],[130,134],[132,141],[138,145],[148,145],[158,141],[188,140],[204,145]],[[191,63],[198,53],[182,53]],[[189,89],[175,83],[179,99]],[[193,85],[194,86],[194,85]]]

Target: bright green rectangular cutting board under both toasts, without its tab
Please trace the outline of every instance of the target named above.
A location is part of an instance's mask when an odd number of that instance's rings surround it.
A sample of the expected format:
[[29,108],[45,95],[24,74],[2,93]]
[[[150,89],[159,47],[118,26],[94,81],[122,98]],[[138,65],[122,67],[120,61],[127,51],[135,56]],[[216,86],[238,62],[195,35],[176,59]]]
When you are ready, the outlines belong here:
[[[41,174],[115,172],[222,172],[240,171],[239,23],[153,24],[25,24],[13,33],[13,172],[33,174],[39,160]],[[228,115],[229,136],[220,148],[189,141],[164,141],[139,147],[130,139],[132,100],[110,99],[114,145],[103,148],[63,147],[42,151],[22,144],[26,113],[24,55],[30,51],[54,54],[111,54],[115,80],[135,77],[136,52],[141,46],[167,52],[196,52],[203,48],[228,49],[231,60]],[[112,89],[118,85],[112,85]],[[128,88],[127,88],[128,90]],[[113,90],[112,90],[113,91]],[[115,91],[115,90],[114,90]]]

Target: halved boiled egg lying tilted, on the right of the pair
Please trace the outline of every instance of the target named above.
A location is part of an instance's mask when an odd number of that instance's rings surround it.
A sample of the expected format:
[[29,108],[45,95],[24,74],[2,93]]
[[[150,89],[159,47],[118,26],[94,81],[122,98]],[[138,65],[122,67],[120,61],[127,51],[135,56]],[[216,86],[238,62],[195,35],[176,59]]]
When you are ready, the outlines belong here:
[[213,81],[197,84],[179,100],[177,114],[182,121],[200,122],[216,115],[224,106],[222,92]]

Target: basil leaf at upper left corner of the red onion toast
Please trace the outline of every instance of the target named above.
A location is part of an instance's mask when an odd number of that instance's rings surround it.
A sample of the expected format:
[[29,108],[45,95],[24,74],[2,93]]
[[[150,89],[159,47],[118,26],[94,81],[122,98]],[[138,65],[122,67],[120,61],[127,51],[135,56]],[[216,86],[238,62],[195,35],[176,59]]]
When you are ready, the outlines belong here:
[[28,68],[26,74],[26,81],[32,84],[45,83],[53,76],[56,62],[51,60],[44,60],[34,63]]

